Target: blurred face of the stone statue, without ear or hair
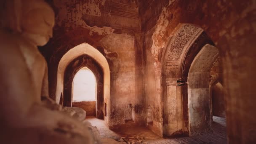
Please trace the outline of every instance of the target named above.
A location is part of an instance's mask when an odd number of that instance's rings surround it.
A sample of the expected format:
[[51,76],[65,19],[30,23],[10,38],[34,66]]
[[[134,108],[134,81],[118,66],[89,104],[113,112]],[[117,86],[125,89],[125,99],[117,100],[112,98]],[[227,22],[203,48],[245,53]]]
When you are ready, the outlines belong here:
[[22,35],[38,46],[45,45],[53,36],[54,12],[43,0],[23,0]]

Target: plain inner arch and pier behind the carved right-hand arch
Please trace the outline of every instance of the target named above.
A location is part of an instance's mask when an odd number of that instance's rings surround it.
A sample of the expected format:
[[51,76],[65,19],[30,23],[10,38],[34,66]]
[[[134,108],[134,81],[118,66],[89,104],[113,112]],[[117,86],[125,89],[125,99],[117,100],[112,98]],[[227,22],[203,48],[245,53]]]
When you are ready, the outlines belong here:
[[219,51],[205,45],[193,60],[188,74],[189,134],[210,132],[212,125],[210,71]]

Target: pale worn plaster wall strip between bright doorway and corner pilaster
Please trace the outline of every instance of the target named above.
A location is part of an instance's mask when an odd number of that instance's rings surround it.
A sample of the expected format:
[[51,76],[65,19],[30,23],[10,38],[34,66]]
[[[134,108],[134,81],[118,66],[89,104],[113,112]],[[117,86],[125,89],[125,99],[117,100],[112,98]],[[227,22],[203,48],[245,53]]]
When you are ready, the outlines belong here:
[[[101,39],[100,43],[108,51],[115,51],[111,69],[111,127],[125,124],[125,109],[128,104],[136,105],[134,36],[112,34]],[[106,53],[108,53],[106,51]]]

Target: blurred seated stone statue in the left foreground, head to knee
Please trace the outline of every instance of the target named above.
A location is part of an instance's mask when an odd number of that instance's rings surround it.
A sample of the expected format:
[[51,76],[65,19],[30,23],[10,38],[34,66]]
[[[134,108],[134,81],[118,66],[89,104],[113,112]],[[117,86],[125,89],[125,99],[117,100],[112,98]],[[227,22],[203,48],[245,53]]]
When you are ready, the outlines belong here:
[[47,64],[37,46],[52,37],[51,7],[43,0],[3,0],[0,4],[1,143],[97,143],[88,124],[48,103]]

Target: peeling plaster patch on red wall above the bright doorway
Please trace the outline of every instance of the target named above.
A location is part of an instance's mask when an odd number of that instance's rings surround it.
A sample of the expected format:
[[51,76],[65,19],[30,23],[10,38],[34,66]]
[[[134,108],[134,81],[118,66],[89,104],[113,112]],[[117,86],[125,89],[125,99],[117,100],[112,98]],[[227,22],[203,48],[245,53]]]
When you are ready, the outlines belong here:
[[[109,35],[114,32],[115,29],[111,27],[90,27],[82,17],[84,15],[89,16],[101,16],[100,5],[104,6],[106,0],[90,0],[89,2],[74,2],[70,0],[54,0],[54,5],[58,5],[59,11],[56,17],[56,24],[64,27],[83,27],[89,29],[93,33],[98,35]],[[61,5],[61,6],[60,6]],[[75,8],[73,8],[75,7]]]

